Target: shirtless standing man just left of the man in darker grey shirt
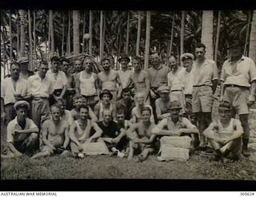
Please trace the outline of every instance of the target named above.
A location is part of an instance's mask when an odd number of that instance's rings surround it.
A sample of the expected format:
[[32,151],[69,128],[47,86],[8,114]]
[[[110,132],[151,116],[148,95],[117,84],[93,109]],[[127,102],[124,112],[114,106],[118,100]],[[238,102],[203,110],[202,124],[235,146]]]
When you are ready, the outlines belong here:
[[130,74],[126,87],[134,84],[135,93],[144,93],[146,104],[150,104],[150,79],[148,73],[142,70],[142,59],[134,57],[132,65],[134,66],[134,73]]

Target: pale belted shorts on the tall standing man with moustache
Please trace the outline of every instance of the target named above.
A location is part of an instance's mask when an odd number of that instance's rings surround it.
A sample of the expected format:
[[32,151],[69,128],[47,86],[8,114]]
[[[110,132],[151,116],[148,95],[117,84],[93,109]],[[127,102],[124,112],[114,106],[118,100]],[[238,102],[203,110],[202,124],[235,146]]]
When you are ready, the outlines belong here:
[[193,87],[192,112],[211,112],[213,103],[213,90],[210,86]]

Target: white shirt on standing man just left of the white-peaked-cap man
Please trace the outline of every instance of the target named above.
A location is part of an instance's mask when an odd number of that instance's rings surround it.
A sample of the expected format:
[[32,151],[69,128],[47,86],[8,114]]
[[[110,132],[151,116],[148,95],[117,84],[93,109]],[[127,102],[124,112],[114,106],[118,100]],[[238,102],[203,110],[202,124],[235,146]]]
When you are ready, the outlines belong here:
[[170,71],[170,73],[168,73],[167,78],[170,91],[176,89],[183,89],[184,85],[182,83],[182,77],[184,76],[185,72],[186,69],[184,67],[178,67],[178,70],[175,73],[173,73],[173,71]]

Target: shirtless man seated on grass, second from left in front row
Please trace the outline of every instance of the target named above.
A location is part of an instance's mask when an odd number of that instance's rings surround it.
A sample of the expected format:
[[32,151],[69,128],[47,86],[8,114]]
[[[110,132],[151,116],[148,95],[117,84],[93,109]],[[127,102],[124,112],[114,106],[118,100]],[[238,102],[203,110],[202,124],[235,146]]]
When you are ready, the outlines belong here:
[[42,123],[42,143],[41,152],[35,154],[32,159],[38,159],[52,154],[67,156],[66,150],[70,143],[69,124],[61,119],[61,109],[53,104],[50,107],[51,119]]

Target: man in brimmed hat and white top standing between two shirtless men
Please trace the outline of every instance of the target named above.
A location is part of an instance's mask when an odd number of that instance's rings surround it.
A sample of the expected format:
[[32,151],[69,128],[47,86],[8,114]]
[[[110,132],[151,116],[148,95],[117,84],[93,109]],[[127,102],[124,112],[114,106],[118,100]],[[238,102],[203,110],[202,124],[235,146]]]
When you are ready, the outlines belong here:
[[118,70],[118,74],[122,83],[122,87],[126,87],[128,83],[128,79],[132,71],[128,68],[128,64],[130,62],[130,57],[126,54],[122,54],[122,56],[118,59],[118,62],[122,65],[122,69]]

